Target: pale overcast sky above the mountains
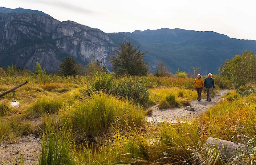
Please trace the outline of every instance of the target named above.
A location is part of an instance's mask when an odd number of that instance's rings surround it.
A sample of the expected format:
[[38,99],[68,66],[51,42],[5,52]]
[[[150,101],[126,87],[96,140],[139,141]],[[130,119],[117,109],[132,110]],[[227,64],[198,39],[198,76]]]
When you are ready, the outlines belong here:
[[256,40],[253,0],[1,0],[0,6],[40,10],[107,33],[147,29],[214,31]]

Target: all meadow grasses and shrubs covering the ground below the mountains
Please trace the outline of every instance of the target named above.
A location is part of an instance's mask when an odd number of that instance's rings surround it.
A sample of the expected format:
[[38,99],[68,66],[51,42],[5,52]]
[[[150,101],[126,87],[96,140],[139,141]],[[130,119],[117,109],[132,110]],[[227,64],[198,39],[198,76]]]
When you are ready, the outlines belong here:
[[[0,92],[28,84],[0,98],[0,141],[18,142],[21,136],[36,134],[42,140],[36,164],[256,163],[253,82],[228,92],[225,100],[195,120],[155,125],[145,120],[147,108],[189,105],[197,98],[194,78],[116,77],[100,71],[94,77],[60,76],[9,69],[13,71],[0,76]],[[216,80],[221,78],[216,75]],[[219,82],[216,91],[230,85]],[[20,106],[10,107],[12,99]],[[40,124],[31,122],[35,119]],[[209,137],[244,143],[248,150],[236,151],[232,158],[221,156],[204,144]]]

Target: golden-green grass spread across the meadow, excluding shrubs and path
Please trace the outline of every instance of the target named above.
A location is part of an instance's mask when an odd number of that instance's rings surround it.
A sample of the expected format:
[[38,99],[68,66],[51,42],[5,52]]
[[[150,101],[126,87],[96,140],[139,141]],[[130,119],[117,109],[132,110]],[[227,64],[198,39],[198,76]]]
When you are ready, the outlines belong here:
[[[158,104],[171,94],[181,105],[197,98],[193,78],[132,78],[151,87],[151,103]],[[1,98],[0,103],[8,103],[14,98],[21,105],[11,108],[7,116],[0,117],[0,141],[16,142],[29,132],[45,133],[43,154],[49,157],[62,155],[63,158],[72,156],[75,161],[71,164],[193,164],[194,158],[190,155],[193,153],[201,156],[202,162],[221,162],[222,158],[217,157],[215,151],[204,155],[202,147],[208,137],[232,141],[235,137],[232,131],[250,138],[256,134],[255,95],[244,97],[230,92],[226,100],[209,108],[198,120],[155,126],[145,123],[146,112],[128,100],[104,93],[87,96],[84,91],[92,80],[83,76],[0,77],[1,90],[24,81],[29,83],[16,89],[14,96],[10,93]],[[205,97],[204,92],[202,97]],[[26,111],[28,107],[33,110]],[[48,114],[59,109],[61,112]],[[32,112],[41,116],[40,129],[31,126],[28,116]],[[51,151],[46,146],[50,146]],[[255,156],[252,159],[255,160]],[[41,164],[46,162],[40,158]]]

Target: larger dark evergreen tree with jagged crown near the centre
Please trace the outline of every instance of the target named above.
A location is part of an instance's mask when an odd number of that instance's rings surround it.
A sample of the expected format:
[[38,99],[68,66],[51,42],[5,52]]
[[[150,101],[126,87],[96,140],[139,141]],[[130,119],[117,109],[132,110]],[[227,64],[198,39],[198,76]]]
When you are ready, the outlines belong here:
[[110,57],[113,71],[116,74],[129,74],[129,75],[147,75],[148,64],[142,61],[142,58],[147,53],[140,53],[138,48],[133,49],[130,42],[120,44],[119,51],[115,50],[116,57]]

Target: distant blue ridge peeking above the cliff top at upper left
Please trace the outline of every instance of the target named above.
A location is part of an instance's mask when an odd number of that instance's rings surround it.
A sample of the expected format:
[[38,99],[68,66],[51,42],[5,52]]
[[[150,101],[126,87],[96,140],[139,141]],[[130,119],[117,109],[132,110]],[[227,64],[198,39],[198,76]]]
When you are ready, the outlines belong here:
[[9,8],[5,8],[5,7],[0,7],[0,13],[26,13],[26,14],[37,14],[37,15],[43,15],[46,17],[50,17],[52,18],[50,15],[45,14],[42,11],[38,11],[38,10],[30,10],[30,9],[23,9],[21,7],[16,8],[16,9],[9,9]]

